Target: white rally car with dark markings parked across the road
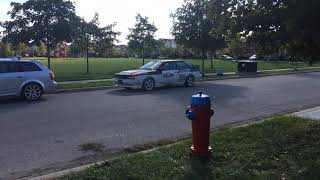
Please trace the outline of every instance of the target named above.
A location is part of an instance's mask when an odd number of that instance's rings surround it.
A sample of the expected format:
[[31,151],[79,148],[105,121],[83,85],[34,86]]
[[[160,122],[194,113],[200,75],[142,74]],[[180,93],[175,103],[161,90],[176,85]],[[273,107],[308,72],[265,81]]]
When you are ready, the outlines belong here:
[[158,60],[136,70],[115,74],[113,84],[127,89],[142,88],[151,91],[162,85],[194,86],[202,78],[199,68],[192,64],[180,60]]

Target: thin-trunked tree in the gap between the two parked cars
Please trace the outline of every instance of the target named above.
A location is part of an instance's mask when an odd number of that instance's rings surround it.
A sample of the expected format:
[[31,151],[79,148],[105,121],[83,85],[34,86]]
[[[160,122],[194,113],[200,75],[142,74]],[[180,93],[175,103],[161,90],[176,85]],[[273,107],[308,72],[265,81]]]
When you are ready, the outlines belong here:
[[99,14],[95,13],[93,19],[86,22],[78,17],[74,23],[73,50],[85,50],[87,59],[87,74],[89,74],[89,49],[105,52],[113,46],[116,37],[120,34],[113,30],[115,24],[99,28]]

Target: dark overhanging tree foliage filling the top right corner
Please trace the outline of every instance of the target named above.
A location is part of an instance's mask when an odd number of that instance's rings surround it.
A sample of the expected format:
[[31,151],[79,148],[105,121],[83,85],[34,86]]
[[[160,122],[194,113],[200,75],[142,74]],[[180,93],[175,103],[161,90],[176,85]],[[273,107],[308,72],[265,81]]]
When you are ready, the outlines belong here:
[[312,64],[320,58],[319,6],[318,0],[210,0],[209,18],[216,34],[244,38],[258,54],[285,49]]

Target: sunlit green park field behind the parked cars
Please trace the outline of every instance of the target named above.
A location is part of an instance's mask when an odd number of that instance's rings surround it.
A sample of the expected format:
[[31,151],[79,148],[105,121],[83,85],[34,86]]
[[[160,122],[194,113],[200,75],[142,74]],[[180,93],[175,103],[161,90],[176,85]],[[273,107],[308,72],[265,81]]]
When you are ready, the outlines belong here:
[[[33,60],[40,60],[44,65],[47,65],[46,58],[32,58]],[[150,60],[146,60],[149,62]],[[184,61],[199,65],[201,67],[201,60],[199,59],[185,59]],[[55,72],[57,81],[73,81],[73,80],[87,80],[87,79],[105,79],[112,78],[112,76],[120,71],[135,69],[142,65],[141,59],[128,58],[90,58],[89,70],[86,74],[86,59],[84,58],[52,58],[51,69]],[[307,67],[305,63],[299,63],[299,67]],[[319,66],[319,65],[318,65]],[[232,61],[214,61],[214,67],[223,67],[225,72],[236,72],[237,63]],[[272,70],[272,69],[290,69],[294,66],[290,62],[259,62],[258,69]],[[205,60],[205,73],[213,73],[211,69],[210,60]]]

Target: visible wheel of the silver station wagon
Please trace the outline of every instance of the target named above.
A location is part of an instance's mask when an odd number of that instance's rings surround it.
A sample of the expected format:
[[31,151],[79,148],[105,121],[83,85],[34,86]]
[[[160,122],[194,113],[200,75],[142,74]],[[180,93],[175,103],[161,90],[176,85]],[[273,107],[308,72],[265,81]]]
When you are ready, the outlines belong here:
[[39,84],[27,84],[22,91],[22,97],[28,101],[39,100],[42,96],[42,87]]

